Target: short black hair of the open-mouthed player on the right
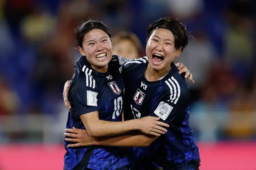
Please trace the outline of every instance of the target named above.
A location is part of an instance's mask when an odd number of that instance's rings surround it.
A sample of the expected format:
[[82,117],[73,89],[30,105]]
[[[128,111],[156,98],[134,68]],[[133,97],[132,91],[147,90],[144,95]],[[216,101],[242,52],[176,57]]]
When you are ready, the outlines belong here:
[[[181,51],[188,45],[188,34],[191,35],[186,26],[178,19],[174,17],[160,18],[159,20],[153,22],[147,27],[147,40],[150,38],[151,34],[155,29],[165,28],[172,32],[174,36],[174,49]],[[193,36],[192,36],[193,37]]]

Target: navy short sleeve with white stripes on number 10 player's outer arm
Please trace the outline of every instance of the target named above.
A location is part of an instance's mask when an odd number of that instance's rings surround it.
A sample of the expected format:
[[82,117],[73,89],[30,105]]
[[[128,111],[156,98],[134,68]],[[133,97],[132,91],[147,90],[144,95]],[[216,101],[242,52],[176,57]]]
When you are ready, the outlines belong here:
[[85,74],[80,72],[70,85],[71,99],[77,116],[98,111],[99,94],[96,82],[92,77],[86,78]]

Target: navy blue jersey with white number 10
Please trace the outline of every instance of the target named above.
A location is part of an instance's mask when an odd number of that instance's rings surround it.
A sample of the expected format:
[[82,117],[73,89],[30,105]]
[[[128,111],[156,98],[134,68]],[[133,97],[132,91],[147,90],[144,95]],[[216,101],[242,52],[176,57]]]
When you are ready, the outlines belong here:
[[[125,58],[113,55],[106,73],[93,70],[84,56],[76,61],[75,73],[68,91],[72,108],[66,128],[85,129],[80,115],[94,111],[99,112],[101,120],[122,121],[124,82],[119,68],[125,61]],[[121,148],[68,148],[67,145],[71,143],[65,141],[65,170],[71,170],[78,164],[95,170],[114,170],[128,164]]]

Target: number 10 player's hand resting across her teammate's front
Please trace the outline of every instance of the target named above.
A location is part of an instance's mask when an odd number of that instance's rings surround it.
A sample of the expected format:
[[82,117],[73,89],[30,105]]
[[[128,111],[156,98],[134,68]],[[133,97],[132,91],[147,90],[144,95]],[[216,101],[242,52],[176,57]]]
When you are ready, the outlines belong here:
[[[153,116],[146,116],[141,119],[139,119],[139,125],[138,129],[139,131],[154,135],[154,136],[160,136],[161,134],[165,134],[167,130],[163,127],[169,127],[169,124],[159,122],[159,117],[153,117]],[[162,127],[163,126],[163,127]]]

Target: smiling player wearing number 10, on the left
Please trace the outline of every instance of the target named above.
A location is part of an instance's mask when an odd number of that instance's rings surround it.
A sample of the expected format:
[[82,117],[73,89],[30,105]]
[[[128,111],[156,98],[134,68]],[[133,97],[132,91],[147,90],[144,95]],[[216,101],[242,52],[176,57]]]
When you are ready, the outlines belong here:
[[[160,135],[169,125],[156,117],[122,121],[124,82],[119,72],[125,58],[112,56],[111,34],[99,21],[84,22],[76,32],[78,49],[82,56],[75,63],[68,100],[71,109],[67,128],[85,129],[90,136],[110,136],[139,130],[145,134]],[[126,170],[128,160],[120,148],[68,148],[64,157],[65,170],[119,169]]]

